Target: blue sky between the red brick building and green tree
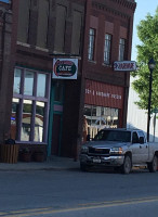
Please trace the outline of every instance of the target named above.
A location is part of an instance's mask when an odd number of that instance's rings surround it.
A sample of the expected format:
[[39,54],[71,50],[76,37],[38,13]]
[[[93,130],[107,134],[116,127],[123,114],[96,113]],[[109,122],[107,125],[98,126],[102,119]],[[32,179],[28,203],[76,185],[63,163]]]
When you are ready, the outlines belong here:
[[134,25],[133,25],[133,41],[132,41],[132,61],[136,61],[136,48],[135,46],[140,43],[136,26],[140,24],[140,21],[145,20],[147,13],[152,15],[155,14],[156,8],[158,7],[157,0],[135,0],[137,5],[134,14]]

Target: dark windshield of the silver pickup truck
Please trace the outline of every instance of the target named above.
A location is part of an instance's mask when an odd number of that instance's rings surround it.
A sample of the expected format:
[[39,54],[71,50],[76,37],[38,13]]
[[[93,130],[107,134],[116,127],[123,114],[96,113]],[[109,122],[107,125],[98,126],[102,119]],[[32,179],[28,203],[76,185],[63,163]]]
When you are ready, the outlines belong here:
[[130,131],[120,130],[101,130],[94,138],[95,141],[119,141],[131,142]]

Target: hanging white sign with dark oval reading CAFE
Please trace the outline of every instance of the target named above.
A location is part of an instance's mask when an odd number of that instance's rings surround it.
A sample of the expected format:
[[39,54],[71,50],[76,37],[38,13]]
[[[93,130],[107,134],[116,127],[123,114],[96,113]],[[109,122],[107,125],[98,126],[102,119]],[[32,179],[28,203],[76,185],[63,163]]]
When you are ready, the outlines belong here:
[[78,59],[54,59],[53,78],[77,79]]

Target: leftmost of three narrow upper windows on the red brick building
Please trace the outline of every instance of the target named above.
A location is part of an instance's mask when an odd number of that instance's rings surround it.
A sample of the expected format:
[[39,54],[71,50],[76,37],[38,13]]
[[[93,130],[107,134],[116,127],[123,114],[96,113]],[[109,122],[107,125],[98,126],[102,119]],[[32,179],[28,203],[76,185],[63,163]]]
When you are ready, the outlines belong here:
[[90,61],[94,60],[94,46],[95,46],[95,29],[90,28],[89,33],[89,50],[88,50],[88,59]]

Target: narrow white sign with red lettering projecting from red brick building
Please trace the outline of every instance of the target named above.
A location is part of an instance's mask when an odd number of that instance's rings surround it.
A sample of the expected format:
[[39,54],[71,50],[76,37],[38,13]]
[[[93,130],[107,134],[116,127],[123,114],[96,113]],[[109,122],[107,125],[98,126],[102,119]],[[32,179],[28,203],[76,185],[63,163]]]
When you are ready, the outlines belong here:
[[116,61],[114,62],[114,71],[136,71],[135,61]]

